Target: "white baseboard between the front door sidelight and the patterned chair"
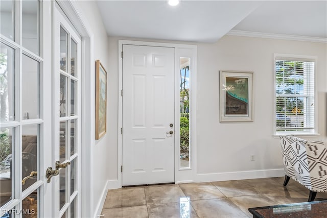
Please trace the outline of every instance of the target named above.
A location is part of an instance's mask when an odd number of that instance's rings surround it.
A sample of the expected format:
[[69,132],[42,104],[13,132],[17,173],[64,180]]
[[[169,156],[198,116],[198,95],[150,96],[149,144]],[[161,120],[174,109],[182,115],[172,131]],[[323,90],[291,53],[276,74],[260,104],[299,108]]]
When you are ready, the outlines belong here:
[[284,168],[281,169],[263,169],[259,171],[240,171],[227,173],[198,174],[195,182],[214,182],[240,179],[258,179],[269,177],[285,176]]

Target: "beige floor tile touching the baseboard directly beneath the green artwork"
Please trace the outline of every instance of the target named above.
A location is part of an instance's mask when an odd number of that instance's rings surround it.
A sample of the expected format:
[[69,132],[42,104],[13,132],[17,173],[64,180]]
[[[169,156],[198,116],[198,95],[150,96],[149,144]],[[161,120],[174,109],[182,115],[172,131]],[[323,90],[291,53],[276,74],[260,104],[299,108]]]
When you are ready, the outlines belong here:
[[259,191],[242,180],[212,182],[226,197],[259,195]]

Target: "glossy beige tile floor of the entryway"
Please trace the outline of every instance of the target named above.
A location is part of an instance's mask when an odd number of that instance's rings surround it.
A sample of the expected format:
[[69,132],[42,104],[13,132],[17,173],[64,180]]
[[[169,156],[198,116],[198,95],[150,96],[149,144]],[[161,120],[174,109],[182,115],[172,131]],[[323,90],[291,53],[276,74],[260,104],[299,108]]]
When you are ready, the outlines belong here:
[[[104,217],[253,217],[251,207],[305,202],[309,190],[284,177],[109,190]],[[315,200],[326,200],[317,193]],[[102,216],[103,217],[103,216]]]

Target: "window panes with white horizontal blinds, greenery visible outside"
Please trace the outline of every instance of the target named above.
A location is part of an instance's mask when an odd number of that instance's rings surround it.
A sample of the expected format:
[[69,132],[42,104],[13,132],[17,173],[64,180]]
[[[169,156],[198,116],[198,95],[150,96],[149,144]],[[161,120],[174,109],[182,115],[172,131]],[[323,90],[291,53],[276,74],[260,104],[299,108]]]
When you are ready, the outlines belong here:
[[307,92],[313,70],[313,66],[308,63],[288,60],[275,62],[277,129],[283,131],[285,128],[303,127],[303,114],[309,113]]

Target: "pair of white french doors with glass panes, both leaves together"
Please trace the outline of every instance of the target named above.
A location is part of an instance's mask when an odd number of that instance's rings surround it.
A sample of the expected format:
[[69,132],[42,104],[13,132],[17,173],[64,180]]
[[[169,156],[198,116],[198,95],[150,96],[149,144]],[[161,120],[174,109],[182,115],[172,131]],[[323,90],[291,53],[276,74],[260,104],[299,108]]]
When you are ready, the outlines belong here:
[[54,1],[0,11],[0,217],[80,217],[80,37]]

